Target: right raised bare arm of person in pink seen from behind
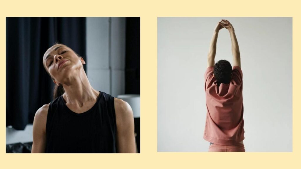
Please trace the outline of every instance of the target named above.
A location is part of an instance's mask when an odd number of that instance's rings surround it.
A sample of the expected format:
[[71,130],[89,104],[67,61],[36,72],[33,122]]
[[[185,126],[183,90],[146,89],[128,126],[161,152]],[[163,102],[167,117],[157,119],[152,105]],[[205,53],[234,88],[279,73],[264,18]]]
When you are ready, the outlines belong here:
[[232,24],[228,20],[222,20],[225,23],[221,23],[223,27],[229,30],[232,44],[233,66],[240,66],[240,52],[238,42],[236,39],[235,31]]

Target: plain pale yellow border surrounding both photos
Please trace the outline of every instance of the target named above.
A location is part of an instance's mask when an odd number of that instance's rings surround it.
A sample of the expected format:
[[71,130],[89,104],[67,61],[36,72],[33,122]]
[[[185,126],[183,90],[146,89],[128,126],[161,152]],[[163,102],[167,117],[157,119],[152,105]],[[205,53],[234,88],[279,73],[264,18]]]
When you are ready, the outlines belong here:
[[[5,1],[0,38],[2,168],[298,168],[300,9],[297,1]],[[5,154],[5,17],[141,17],[141,154]],[[293,17],[293,152],[157,152],[157,17]],[[276,35],[275,35],[276,36]],[[16,42],[17,43],[17,42]],[[288,86],[284,86],[288,87]],[[287,112],[290,113],[290,112]],[[272,141],[272,140],[271,140]],[[294,144],[295,143],[295,144]]]

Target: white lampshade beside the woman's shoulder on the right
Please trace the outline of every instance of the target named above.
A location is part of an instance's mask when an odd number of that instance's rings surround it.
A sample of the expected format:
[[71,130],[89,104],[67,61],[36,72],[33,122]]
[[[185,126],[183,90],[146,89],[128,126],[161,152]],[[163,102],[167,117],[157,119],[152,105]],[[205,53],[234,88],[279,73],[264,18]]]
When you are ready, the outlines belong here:
[[134,118],[140,117],[140,94],[121,94],[117,98],[129,103],[132,107]]

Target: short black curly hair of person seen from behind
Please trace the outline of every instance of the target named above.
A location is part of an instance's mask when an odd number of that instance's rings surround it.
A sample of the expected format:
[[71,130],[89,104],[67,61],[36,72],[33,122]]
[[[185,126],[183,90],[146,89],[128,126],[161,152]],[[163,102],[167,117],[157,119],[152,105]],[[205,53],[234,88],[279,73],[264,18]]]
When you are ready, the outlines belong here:
[[231,63],[227,60],[219,60],[214,65],[213,73],[218,85],[221,83],[230,83],[232,77]]

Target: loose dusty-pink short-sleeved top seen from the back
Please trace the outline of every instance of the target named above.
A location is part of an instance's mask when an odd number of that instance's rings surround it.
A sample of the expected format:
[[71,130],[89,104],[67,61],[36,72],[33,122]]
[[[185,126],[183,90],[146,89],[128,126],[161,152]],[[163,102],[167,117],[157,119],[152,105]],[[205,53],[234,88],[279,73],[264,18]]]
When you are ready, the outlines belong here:
[[204,75],[207,114],[203,138],[219,145],[239,143],[244,140],[243,73],[234,66],[230,84],[218,87],[213,68],[208,67]]

